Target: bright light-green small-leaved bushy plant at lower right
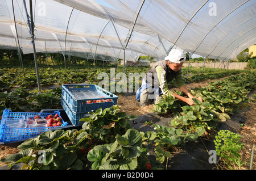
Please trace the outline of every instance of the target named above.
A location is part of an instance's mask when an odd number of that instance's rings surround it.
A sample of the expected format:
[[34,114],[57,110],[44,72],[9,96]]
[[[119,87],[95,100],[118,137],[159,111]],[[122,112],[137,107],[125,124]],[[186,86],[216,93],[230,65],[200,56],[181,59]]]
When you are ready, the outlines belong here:
[[239,151],[243,149],[241,136],[228,130],[221,130],[217,133],[214,144],[216,154],[220,156],[226,165],[233,165],[234,162],[240,160]]

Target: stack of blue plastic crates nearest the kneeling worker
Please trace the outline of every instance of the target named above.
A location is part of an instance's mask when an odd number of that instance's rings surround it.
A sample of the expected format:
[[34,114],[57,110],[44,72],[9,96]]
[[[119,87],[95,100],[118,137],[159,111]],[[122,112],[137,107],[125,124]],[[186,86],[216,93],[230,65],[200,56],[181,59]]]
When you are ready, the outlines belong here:
[[75,126],[88,112],[112,107],[117,99],[118,96],[96,85],[62,85],[61,105]]

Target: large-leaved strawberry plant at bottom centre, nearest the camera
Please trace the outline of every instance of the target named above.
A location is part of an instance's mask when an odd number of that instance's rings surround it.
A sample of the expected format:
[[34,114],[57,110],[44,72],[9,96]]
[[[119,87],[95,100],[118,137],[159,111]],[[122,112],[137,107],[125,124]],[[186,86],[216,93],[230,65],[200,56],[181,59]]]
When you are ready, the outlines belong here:
[[144,137],[144,133],[128,129],[122,136],[117,134],[113,143],[94,146],[87,158],[93,162],[93,170],[151,169],[143,140],[152,139],[154,136]]

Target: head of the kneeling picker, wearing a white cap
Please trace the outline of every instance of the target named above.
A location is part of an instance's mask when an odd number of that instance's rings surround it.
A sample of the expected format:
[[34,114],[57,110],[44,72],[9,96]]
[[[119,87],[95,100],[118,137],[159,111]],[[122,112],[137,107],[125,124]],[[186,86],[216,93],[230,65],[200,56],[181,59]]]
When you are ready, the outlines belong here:
[[184,57],[184,53],[181,50],[172,49],[171,52],[168,54],[168,56],[164,58],[164,60],[166,60],[168,66],[172,70],[178,71],[181,69],[182,65],[184,64],[185,57]]

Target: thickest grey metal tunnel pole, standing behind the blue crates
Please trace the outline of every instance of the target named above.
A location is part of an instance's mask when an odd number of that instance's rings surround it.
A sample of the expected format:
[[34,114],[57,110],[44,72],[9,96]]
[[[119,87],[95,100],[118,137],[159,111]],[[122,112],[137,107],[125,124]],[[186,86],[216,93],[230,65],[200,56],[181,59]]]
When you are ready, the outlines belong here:
[[39,90],[39,92],[41,92],[39,72],[38,72],[38,58],[36,57],[36,49],[35,49],[35,35],[34,35],[34,19],[33,19],[33,10],[32,10],[32,0],[30,0],[30,19],[31,19],[31,35],[32,35],[32,45],[33,45],[33,50],[34,50],[36,77],[38,78],[38,90]]

